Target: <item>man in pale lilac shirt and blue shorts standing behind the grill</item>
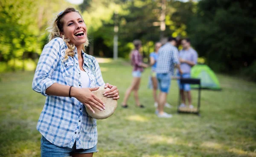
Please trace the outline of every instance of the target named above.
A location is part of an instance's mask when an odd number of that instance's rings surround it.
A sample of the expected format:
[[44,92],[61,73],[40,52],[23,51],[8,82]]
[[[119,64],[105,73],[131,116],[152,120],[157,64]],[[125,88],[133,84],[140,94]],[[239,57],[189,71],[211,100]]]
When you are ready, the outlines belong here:
[[[191,68],[195,64],[197,64],[198,53],[193,48],[191,48],[190,40],[188,38],[183,39],[181,41],[181,45],[183,49],[180,50],[179,58],[180,58],[180,68],[183,71],[183,74],[180,75],[180,73],[177,73],[177,76],[178,77],[182,76],[182,78],[190,78]],[[180,84],[179,80],[178,80],[178,84],[180,87],[180,95],[181,95],[181,101],[182,101],[182,103],[180,104],[180,107],[186,107],[186,98],[187,98],[189,108],[193,108],[190,85]]]

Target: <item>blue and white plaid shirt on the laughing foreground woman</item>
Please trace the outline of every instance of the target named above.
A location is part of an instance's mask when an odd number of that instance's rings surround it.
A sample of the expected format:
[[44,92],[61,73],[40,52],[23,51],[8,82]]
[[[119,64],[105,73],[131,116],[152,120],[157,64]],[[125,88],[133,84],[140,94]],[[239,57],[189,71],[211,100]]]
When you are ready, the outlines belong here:
[[[90,117],[85,106],[76,98],[47,95],[54,83],[82,88],[77,50],[63,62],[67,45],[61,38],[52,39],[41,53],[35,70],[32,89],[46,96],[44,109],[38,120],[38,131],[51,143],[60,147],[90,149],[97,144],[96,119]],[[103,86],[99,63],[95,57],[82,52],[83,69],[90,78],[90,87]]]

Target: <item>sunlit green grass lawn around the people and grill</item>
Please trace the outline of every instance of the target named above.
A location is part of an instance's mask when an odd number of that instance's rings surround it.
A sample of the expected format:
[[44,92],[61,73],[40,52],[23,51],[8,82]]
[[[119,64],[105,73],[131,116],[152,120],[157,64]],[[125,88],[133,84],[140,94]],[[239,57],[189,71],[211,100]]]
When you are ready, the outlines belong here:
[[[131,66],[125,62],[101,63],[105,82],[116,85],[122,102],[131,83]],[[140,101],[131,95],[128,109],[120,106],[108,119],[97,121],[98,149],[94,157],[256,157],[256,84],[218,75],[223,90],[204,90],[201,117],[177,114],[177,82],[172,81],[166,109],[173,118],[154,114],[145,70]],[[0,156],[40,157],[36,124],[45,97],[32,91],[33,72],[2,73],[0,78]],[[197,91],[193,90],[194,100]],[[194,104],[197,102],[195,101]]]

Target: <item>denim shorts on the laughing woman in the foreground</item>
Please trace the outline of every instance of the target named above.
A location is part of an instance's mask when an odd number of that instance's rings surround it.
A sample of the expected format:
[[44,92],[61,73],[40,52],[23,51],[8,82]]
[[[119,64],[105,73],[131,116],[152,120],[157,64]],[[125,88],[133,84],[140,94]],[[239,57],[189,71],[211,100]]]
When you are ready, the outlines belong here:
[[41,157],[69,157],[73,153],[86,154],[97,151],[97,145],[90,149],[76,149],[76,142],[71,148],[59,147],[50,143],[44,136],[41,138]]

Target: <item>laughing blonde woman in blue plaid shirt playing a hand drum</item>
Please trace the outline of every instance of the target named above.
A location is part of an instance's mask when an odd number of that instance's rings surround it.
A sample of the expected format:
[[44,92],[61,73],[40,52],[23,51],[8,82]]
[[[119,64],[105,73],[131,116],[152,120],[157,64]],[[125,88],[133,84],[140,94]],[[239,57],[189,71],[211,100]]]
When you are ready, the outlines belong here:
[[42,157],[92,157],[97,152],[96,119],[85,108],[105,109],[91,91],[105,85],[105,96],[119,99],[116,86],[105,84],[95,57],[84,53],[87,27],[74,8],[55,18],[49,28],[32,89],[46,96],[37,129],[42,134]]

